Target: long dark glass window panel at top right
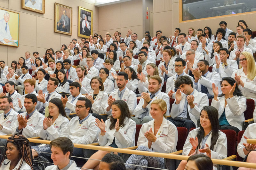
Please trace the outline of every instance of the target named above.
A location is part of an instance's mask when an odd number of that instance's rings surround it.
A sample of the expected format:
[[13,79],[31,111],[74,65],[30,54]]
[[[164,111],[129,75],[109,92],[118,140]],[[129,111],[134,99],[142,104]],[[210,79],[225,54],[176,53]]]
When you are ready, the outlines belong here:
[[182,21],[256,11],[256,0],[181,0]]

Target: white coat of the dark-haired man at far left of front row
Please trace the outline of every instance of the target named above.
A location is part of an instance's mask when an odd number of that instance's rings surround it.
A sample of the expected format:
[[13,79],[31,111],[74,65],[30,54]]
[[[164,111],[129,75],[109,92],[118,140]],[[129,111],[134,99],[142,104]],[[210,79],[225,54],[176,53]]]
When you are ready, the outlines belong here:
[[3,129],[0,130],[0,135],[10,135],[12,131],[16,130],[15,122],[17,121],[17,116],[19,113],[11,109],[10,114],[4,119],[4,113],[0,114],[0,124]]

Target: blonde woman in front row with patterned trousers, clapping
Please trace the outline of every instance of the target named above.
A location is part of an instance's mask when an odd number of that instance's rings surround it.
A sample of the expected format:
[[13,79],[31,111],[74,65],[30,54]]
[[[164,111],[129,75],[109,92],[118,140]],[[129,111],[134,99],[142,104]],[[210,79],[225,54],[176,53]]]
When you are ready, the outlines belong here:
[[[167,105],[163,99],[156,99],[151,103],[150,114],[153,120],[142,125],[136,150],[161,153],[176,151],[178,131],[174,124],[165,119],[166,110]],[[132,154],[126,161],[126,168],[136,169],[137,166],[134,165],[165,169],[164,158]]]

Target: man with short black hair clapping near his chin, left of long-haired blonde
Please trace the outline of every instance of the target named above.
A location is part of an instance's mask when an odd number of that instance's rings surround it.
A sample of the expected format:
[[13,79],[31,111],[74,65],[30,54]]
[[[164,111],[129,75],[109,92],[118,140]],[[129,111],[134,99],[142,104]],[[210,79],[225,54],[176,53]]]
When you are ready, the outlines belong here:
[[212,92],[212,83],[214,83],[215,86],[218,87],[219,93],[221,93],[220,74],[216,72],[210,73],[208,70],[209,63],[206,60],[199,60],[197,67],[198,68],[192,70],[192,74],[195,78],[195,89],[199,92],[205,93],[209,99],[212,99],[214,96],[214,93]]

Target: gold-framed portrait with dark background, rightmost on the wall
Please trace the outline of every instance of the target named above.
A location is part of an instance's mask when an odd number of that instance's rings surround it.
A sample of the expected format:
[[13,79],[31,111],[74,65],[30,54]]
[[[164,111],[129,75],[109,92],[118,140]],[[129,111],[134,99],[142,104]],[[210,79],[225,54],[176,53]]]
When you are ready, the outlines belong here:
[[89,38],[93,32],[93,13],[81,6],[78,7],[78,37]]

